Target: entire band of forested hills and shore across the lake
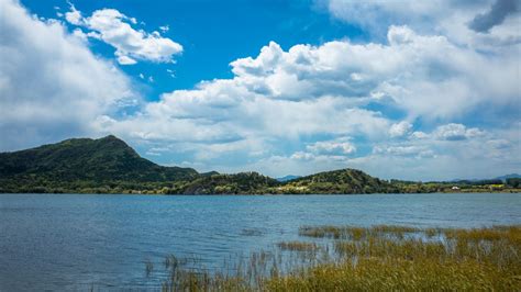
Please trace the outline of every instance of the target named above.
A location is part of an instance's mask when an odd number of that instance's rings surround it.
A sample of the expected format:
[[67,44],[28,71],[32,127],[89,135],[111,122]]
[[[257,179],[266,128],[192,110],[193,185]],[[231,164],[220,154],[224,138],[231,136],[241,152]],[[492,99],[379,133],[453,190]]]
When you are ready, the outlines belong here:
[[0,153],[1,192],[164,193],[164,194],[320,194],[440,191],[520,191],[521,180],[407,182],[341,169],[288,181],[257,172],[198,173],[191,168],[158,166],[110,135]]

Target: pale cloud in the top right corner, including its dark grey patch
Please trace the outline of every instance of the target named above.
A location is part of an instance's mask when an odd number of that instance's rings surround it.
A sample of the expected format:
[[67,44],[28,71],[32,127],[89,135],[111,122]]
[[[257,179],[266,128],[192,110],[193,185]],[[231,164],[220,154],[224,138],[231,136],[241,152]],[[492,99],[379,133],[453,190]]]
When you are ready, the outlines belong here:
[[479,50],[498,50],[498,46],[521,42],[519,0],[315,1],[332,16],[358,25],[383,41],[388,26],[408,25]]

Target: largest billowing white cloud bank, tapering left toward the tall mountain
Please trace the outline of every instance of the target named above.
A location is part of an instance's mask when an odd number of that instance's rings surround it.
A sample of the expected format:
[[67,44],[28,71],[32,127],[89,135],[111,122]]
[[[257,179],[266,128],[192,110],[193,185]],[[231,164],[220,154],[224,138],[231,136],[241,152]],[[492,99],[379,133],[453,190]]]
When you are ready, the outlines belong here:
[[[310,165],[331,159],[335,161],[331,166],[345,167],[346,157],[358,151],[353,141],[339,137],[363,137],[368,145],[388,137],[423,143],[434,136],[457,139],[457,134],[450,134],[452,126],[436,134],[412,133],[408,121],[446,124],[483,106],[496,111],[508,108],[519,97],[514,82],[518,64],[458,46],[444,36],[420,35],[408,26],[391,26],[387,44],[334,41],[284,50],[270,42],[257,56],[232,61],[233,78],[165,93],[138,114],[114,120],[106,131],[182,145],[190,149],[185,154],[191,151],[192,158],[206,161],[230,158],[231,154],[235,158],[230,159],[250,161],[257,159],[254,153],[263,153],[264,158],[275,154],[286,161]],[[374,110],[374,104],[380,110]],[[389,117],[387,106],[404,112],[407,120]],[[465,128],[464,136],[477,135],[473,131]],[[280,146],[302,138],[313,142],[291,153]],[[425,158],[435,153],[425,146],[390,146],[395,148],[387,155],[415,149],[414,157]]]

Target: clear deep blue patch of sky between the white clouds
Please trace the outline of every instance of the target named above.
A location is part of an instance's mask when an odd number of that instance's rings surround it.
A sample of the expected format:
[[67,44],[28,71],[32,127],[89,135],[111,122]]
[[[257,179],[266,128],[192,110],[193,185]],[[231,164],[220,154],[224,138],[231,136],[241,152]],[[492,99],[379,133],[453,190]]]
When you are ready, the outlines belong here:
[[[22,1],[38,16],[56,19],[57,13],[69,10],[67,1]],[[365,40],[367,35],[356,26],[330,18],[323,8],[312,1],[74,1],[75,8],[85,15],[110,8],[135,18],[136,29],[158,31],[164,37],[175,40],[185,49],[176,57],[176,64],[138,63],[121,67],[138,78],[152,76],[153,85],[146,85],[144,98],[157,100],[164,92],[191,89],[201,80],[231,78],[229,63],[244,56],[254,56],[270,41],[282,48],[295,44],[320,45],[330,40],[350,37]],[[59,8],[59,9],[57,9]],[[153,8],[153,9],[152,9]],[[59,19],[59,18],[58,18]],[[141,23],[143,22],[143,23]],[[76,26],[65,23],[69,30]],[[114,48],[91,40],[95,54],[111,58]],[[175,78],[167,71],[175,72]]]

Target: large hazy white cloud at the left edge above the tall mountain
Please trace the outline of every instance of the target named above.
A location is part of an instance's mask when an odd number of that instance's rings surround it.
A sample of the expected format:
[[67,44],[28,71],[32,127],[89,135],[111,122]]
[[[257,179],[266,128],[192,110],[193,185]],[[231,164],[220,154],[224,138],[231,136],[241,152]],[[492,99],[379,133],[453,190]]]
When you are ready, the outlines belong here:
[[125,75],[59,22],[0,5],[0,150],[96,135],[92,120],[135,99]]

